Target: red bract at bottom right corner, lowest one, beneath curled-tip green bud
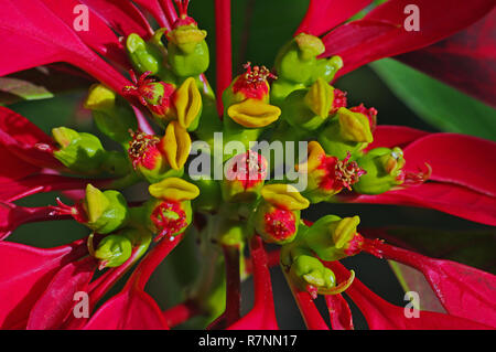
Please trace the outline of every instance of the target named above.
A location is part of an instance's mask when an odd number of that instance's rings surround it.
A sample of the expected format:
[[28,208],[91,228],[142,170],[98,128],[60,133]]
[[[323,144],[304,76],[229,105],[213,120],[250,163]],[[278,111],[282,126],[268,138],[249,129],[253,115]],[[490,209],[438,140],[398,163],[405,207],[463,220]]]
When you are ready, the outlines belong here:
[[[349,271],[338,262],[328,262],[338,280],[346,279]],[[407,318],[403,307],[391,305],[370,291],[355,278],[346,294],[358,306],[374,330],[483,330],[490,327],[454,316],[419,311],[419,317]],[[408,309],[408,308],[407,308]]]

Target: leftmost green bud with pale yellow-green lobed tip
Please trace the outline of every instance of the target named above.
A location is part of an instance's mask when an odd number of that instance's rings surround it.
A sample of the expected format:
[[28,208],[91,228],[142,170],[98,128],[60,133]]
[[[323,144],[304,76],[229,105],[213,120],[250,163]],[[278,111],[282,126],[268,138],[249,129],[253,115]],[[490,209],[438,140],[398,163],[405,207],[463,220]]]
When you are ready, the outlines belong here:
[[100,171],[106,151],[100,140],[90,134],[77,132],[66,127],[52,129],[52,135],[60,149],[53,152],[68,169],[86,174]]

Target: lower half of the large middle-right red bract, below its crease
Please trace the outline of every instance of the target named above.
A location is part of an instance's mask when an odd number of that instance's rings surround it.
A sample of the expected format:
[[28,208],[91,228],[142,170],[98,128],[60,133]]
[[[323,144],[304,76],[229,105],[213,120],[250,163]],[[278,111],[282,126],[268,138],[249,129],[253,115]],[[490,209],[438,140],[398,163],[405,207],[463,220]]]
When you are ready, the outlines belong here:
[[338,199],[352,203],[396,204],[430,207],[477,223],[496,225],[496,198],[470,189],[435,181],[389,191],[377,195],[346,196]]

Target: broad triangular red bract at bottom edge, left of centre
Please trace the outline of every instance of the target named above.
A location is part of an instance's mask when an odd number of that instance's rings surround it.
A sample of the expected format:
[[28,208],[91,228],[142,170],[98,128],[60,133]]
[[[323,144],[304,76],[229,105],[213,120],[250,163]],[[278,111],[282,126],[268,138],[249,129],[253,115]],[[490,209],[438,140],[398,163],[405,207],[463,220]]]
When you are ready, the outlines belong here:
[[131,286],[105,302],[85,330],[168,330],[160,307],[144,291]]

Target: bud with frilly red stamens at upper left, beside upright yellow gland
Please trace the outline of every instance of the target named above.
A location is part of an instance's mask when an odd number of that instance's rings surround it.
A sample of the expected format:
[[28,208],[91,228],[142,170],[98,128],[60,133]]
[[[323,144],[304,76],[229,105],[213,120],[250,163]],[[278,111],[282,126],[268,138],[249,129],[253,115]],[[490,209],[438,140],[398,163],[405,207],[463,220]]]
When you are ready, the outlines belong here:
[[150,75],[150,71],[143,73],[139,79],[136,77],[134,72],[130,71],[129,74],[134,85],[123,87],[122,94],[136,96],[162,125],[171,120],[174,117],[174,111],[171,108],[171,97],[175,90],[174,86],[165,82],[155,82],[155,78],[147,78]]

